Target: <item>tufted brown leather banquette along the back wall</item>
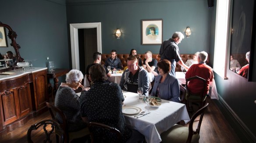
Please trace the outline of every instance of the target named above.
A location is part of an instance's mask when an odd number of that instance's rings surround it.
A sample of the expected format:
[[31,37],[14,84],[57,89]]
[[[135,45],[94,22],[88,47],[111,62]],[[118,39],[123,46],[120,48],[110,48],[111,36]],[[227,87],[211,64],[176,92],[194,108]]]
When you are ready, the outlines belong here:
[[[145,58],[145,54],[137,54],[139,57],[142,59]],[[180,54],[182,61],[185,63],[188,59],[192,59],[194,54]],[[127,58],[129,54],[117,54],[117,58],[120,58],[121,63],[123,65],[122,68],[127,66]],[[206,60],[206,64],[209,63],[209,54],[208,58]],[[101,54],[101,64],[105,64],[105,61],[107,60],[108,57],[111,57],[111,54]],[[156,59],[157,61],[160,61],[160,54],[153,54],[153,58]],[[175,71],[181,71],[181,66],[176,63],[176,68]]]

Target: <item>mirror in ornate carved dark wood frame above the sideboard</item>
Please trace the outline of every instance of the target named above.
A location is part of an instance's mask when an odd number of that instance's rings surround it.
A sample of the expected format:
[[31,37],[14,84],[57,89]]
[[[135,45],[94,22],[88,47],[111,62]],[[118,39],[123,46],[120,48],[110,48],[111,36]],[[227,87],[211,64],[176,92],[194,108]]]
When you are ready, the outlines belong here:
[[[11,71],[14,68],[16,68],[17,62],[19,61],[24,61],[23,58],[21,58],[20,53],[19,53],[19,48],[21,48],[15,41],[17,34],[16,32],[14,32],[11,27],[7,24],[3,24],[2,22],[0,22],[0,27],[4,27],[4,31],[6,31],[7,36],[11,39],[11,46],[14,48],[15,50],[15,61],[13,62],[12,65],[5,65],[5,61],[1,60],[1,66],[0,66],[0,72],[4,72],[4,71]],[[2,47],[1,47],[2,48]],[[4,48],[1,49],[1,57],[0,58],[4,58],[2,57],[2,55],[6,55],[7,51],[3,50]],[[4,52],[3,52],[4,51]],[[8,57],[5,56],[5,59],[8,59]],[[3,64],[2,64],[3,63]]]

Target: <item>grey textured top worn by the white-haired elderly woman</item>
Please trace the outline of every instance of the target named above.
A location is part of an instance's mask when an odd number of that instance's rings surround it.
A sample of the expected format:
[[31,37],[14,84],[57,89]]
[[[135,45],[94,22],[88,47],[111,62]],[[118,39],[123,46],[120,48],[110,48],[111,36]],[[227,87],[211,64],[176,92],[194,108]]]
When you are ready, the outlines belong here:
[[[55,96],[55,106],[67,116],[68,130],[78,131],[86,127],[80,115],[79,96],[70,87],[60,86]],[[62,122],[61,117],[57,119]]]

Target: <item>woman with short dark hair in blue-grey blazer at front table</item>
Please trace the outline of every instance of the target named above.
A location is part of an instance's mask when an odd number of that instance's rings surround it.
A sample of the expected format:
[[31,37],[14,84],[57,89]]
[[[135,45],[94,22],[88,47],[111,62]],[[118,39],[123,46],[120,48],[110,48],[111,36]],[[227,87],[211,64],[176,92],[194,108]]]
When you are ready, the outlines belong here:
[[173,102],[180,102],[180,86],[178,79],[169,74],[171,71],[171,62],[166,59],[159,61],[157,68],[159,75],[155,77],[151,96]]

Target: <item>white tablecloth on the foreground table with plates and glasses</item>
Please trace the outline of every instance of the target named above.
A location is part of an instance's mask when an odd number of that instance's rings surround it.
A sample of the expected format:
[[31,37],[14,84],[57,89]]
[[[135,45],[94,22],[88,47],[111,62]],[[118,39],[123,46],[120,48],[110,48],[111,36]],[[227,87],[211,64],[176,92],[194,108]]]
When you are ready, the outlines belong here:
[[[147,104],[138,102],[138,94],[132,92],[124,92],[123,94],[126,96],[123,106],[136,106],[146,111]],[[140,118],[135,118],[134,115],[124,115],[127,126],[142,133],[147,143],[160,143],[161,133],[181,120],[184,120],[185,123],[190,120],[185,104],[177,102],[162,102],[159,108],[149,106],[149,112],[150,114]]]

